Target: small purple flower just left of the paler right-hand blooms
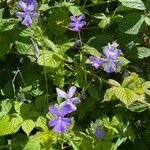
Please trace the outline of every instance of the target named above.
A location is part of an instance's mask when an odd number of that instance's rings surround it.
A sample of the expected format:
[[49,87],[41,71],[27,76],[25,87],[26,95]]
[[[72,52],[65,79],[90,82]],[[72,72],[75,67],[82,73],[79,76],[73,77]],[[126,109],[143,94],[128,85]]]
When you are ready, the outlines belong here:
[[92,66],[95,67],[95,69],[98,69],[101,65],[104,64],[104,62],[101,61],[101,58],[98,55],[96,55],[95,57],[90,56],[89,60],[92,62]]

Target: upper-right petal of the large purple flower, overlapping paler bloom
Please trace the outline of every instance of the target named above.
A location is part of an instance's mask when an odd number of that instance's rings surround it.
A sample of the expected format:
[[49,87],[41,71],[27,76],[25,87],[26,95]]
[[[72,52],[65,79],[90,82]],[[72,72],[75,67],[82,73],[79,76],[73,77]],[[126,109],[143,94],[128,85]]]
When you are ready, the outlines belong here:
[[65,116],[66,114],[70,113],[71,111],[71,106],[69,104],[65,104],[65,105],[61,105],[60,104],[60,112],[59,112],[59,116]]

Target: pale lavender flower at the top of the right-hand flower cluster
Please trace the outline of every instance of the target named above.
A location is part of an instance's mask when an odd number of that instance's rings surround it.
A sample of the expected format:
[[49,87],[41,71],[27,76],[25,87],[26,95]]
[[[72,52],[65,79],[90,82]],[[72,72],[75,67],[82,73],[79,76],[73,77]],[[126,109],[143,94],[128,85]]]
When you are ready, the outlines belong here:
[[103,48],[104,55],[107,58],[116,59],[122,52],[120,49],[117,49],[117,47],[118,47],[117,43],[113,44],[108,43],[108,45]]

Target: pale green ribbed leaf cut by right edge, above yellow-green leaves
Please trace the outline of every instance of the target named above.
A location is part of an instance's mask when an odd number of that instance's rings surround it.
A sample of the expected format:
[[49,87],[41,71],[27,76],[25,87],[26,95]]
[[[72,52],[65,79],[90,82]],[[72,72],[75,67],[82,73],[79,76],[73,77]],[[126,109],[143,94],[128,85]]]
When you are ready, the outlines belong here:
[[137,47],[138,58],[143,59],[150,56],[150,49],[147,47]]

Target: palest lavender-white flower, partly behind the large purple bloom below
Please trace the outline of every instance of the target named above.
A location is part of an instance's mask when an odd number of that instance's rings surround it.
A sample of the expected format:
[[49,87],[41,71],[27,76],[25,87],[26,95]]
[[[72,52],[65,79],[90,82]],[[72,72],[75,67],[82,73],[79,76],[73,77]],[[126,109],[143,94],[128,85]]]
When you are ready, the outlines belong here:
[[65,101],[62,102],[60,104],[60,106],[62,107],[62,106],[65,106],[65,105],[69,104],[70,107],[71,107],[70,112],[73,112],[77,109],[77,107],[74,104],[78,104],[78,103],[81,102],[78,97],[72,98],[73,95],[75,94],[76,90],[77,90],[76,86],[71,86],[69,91],[67,91],[67,93],[62,91],[59,88],[56,88],[57,95],[60,96],[60,97],[63,97],[65,99]]

